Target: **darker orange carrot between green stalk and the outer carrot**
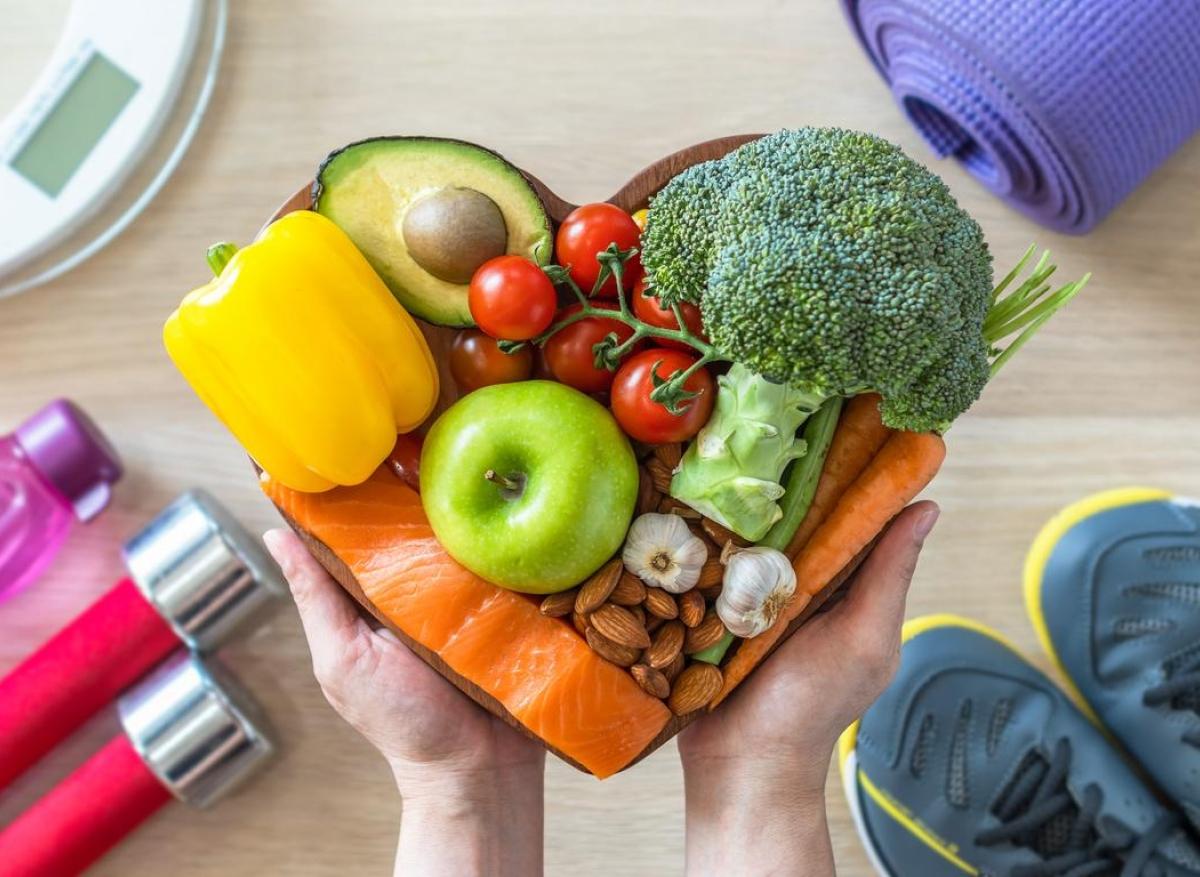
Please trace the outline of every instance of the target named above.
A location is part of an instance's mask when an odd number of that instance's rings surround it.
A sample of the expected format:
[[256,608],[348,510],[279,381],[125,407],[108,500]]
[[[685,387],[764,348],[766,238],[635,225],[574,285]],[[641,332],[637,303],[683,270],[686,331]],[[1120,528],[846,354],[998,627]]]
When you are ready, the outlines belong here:
[[880,420],[880,397],[876,394],[854,396],[846,403],[809,511],[784,549],[787,557],[796,559],[800,548],[833,511],[841,494],[863,474],[863,469],[890,434],[892,431]]

